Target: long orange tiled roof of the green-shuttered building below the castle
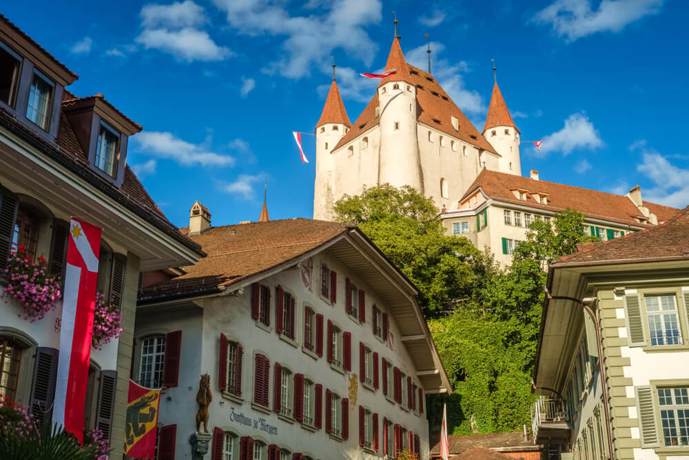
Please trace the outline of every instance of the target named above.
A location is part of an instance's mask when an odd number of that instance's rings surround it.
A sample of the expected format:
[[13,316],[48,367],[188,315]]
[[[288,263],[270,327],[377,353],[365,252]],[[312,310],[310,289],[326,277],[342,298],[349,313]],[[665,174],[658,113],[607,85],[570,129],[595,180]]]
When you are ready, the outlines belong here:
[[[644,227],[644,224],[636,221],[633,216],[641,216],[634,203],[623,195],[617,195],[588,188],[566,186],[562,183],[537,181],[530,177],[517,176],[506,172],[482,170],[475,181],[469,186],[466,193],[460,199],[462,203],[470,197],[478,188],[486,196],[496,201],[521,204],[531,208],[561,212],[566,208],[582,212],[591,219],[602,219],[615,223]],[[527,190],[526,201],[517,199],[512,190]],[[548,194],[548,204],[537,203],[531,195],[535,192]],[[650,203],[652,207],[660,206]],[[663,206],[664,215],[672,208]],[[679,210],[675,210],[675,213]]]

